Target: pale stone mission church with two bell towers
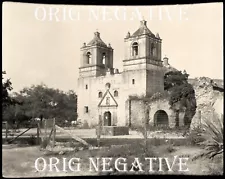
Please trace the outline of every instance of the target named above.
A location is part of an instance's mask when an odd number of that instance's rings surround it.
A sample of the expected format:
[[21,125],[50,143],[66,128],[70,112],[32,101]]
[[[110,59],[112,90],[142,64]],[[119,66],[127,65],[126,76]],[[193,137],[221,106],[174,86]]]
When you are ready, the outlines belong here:
[[[147,22],[142,20],[133,34],[127,33],[124,45],[122,72],[114,68],[113,48],[103,42],[99,32],[95,32],[94,38],[81,47],[78,119],[82,123],[96,126],[99,118],[104,126],[140,123],[137,118],[141,117],[139,113],[144,113],[144,104],[137,103],[132,109],[129,96],[151,96],[164,91],[165,67],[161,61],[162,39],[159,34],[154,35],[148,29]],[[168,58],[164,61],[168,65]],[[161,106],[165,106],[165,102]],[[150,122],[157,120],[154,115],[159,108],[157,104],[155,111],[150,112]],[[160,118],[166,118],[166,122],[173,127],[175,114],[169,110],[169,105],[162,108],[166,109],[161,110]],[[137,116],[136,119],[134,116]]]

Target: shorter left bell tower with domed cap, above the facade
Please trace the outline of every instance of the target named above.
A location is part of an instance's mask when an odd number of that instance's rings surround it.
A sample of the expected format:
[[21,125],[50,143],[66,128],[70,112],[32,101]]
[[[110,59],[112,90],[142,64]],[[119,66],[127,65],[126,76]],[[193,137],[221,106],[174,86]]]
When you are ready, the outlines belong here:
[[100,33],[95,32],[94,38],[81,47],[80,77],[105,75],[108,69],[113,68],[113,49],[100,38]]

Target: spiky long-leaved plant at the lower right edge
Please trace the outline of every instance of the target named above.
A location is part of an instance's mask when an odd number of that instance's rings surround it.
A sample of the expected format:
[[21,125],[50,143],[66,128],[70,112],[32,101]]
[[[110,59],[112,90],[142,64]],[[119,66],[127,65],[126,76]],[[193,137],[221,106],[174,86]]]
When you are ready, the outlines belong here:
[[[212,121],[217,121],[217,125]],[[205,151],[194,159],[203,156],[212,159],[217,155],[223,155],[223,118],[220,119],[218,116],[213,115],[213,119],[211,121],[205,121],[203,128],[204,132],[202,132],[202,136],[204,137],[204,141],[199,144],[205,147]]]

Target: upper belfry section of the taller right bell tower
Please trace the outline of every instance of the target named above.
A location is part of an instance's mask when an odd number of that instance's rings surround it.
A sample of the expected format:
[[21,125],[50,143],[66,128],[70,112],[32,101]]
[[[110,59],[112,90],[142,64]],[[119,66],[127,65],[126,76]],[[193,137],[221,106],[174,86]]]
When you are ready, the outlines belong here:
[[[126,70],[128,61],[136,61],[137,64],[154,64],[162,66],[161,62],[161,43],[159,34],[156,36],[148,29],[147,21],[142,20],[140,27],[132,35],[127,33],[125,42],[125,59],[123,65]],[[143,65],[144,66],[144,65]],[[135,67],[136,68],[136,67]]]

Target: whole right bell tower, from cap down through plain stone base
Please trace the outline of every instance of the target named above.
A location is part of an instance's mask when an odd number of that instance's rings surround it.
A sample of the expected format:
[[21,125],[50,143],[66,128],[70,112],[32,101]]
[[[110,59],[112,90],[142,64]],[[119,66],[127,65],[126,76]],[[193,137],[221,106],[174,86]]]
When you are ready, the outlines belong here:
[[147,21],[142,20],[132,35],[127,33],[124,43],[123,73],[125,82],[129,83],[128,88],[139,90],[139,95],[151,96],[163,92],[162,39],[159,34],[153,34],[147,27]]

